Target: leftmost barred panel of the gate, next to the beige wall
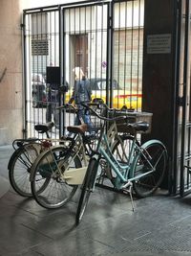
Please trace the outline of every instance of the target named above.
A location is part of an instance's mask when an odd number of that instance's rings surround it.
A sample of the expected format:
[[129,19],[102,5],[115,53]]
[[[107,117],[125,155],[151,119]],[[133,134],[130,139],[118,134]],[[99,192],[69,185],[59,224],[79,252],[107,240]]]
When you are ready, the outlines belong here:
[[[26,88],[25,136],[39,136],[35,124],[59,120],[55,112],[58,102],[50,102],[47,66],[60,65],[59,51],[59,10],[24,12],[24,60]],[[59,96],[56,96],[56,100]],[[50,117],[51,116],[51,117]],[[56,121],[57,121],[56,120]],[[57,121],[59,122],[59,121]],[[59,124],[59,123],[58,123]],[[58,136],[53,128],[52,137]]]

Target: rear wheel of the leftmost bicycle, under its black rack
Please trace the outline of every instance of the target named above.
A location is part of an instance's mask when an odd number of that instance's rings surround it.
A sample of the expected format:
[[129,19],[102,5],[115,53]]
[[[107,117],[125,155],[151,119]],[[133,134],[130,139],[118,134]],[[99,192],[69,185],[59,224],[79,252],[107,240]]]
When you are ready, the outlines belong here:
[[11,187],[22,197],[32,197],[31,168],[40,150],[40,144],[26,144],[22,148],[18,148],[11,155],[8,164]]

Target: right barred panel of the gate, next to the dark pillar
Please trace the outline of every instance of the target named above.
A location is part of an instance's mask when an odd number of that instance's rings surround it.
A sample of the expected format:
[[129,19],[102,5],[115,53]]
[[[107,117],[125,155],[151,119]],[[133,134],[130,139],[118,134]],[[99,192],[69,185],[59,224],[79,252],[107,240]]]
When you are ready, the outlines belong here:
[[112,76],[119,87],[113,105],[141,107],[143,1],[116,3],[114,7]]

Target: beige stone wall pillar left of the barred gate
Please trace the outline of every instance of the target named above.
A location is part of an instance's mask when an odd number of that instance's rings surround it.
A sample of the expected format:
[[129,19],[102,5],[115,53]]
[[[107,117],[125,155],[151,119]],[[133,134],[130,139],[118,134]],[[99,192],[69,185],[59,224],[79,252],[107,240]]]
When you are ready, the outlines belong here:
[[22,10],[19,0],[0,5],[0,145],[5,145],[22,137]]

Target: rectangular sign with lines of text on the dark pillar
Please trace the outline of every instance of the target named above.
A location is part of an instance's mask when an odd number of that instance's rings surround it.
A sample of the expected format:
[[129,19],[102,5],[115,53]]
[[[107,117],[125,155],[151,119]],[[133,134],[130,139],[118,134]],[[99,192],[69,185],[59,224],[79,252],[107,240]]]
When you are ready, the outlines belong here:
[[170,54],[171,34],[147,35],[147,54]]

